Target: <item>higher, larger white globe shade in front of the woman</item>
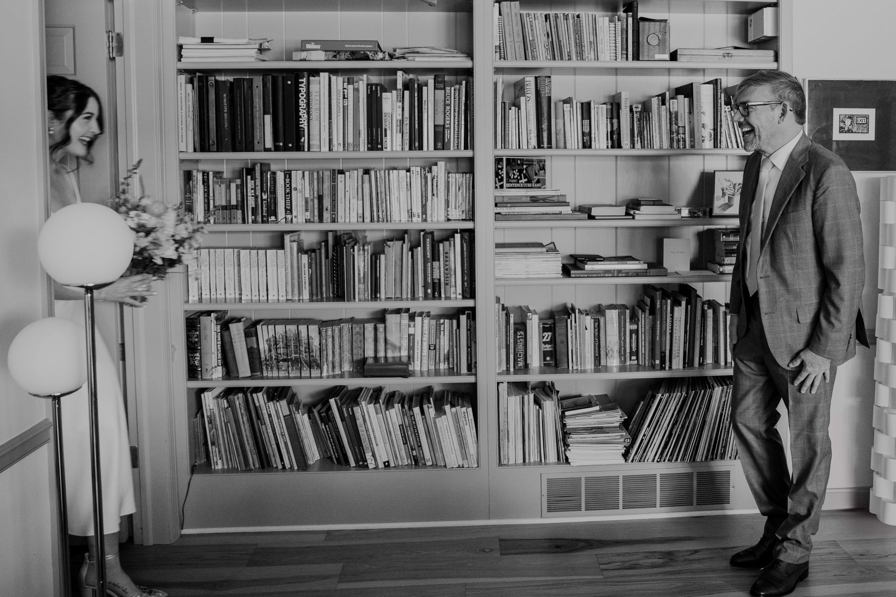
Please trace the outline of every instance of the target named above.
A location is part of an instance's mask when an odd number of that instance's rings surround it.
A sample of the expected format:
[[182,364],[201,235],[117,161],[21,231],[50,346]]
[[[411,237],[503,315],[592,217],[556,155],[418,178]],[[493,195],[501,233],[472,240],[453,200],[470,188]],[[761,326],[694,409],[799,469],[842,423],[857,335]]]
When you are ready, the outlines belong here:
[[114,282],[134,255],[124,218],[99,203],[74,203],[47,219],[38,237],[40,264],[63,286]]

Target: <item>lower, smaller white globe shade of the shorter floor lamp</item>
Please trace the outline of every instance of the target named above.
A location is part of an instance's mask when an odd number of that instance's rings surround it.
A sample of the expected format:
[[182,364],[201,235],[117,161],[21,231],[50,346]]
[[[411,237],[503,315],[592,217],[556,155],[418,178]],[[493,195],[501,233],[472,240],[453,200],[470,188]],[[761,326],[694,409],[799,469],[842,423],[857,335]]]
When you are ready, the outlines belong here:
[[6,362],[13,380],[29,394],[66,394],[87,381],[84,326],[47,317],[13,338]]

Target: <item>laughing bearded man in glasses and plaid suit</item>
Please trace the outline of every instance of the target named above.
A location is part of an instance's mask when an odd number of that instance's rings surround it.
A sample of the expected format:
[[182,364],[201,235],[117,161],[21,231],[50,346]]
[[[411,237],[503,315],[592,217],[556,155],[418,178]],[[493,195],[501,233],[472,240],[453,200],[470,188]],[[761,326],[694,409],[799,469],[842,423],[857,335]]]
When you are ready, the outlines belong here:
[[[831,466],[828,423],[837,366],[867,345],[856,183],[803,134],[806,99],[792,75],[760,71],[737,87],[734,117],[751,151],[731,281],[732,424],[746,480],[766,518],[762,539],[731,558],[762,568],[750,594],[785,595],[809,570]],[[788,408],[788,472],[775,423]]]

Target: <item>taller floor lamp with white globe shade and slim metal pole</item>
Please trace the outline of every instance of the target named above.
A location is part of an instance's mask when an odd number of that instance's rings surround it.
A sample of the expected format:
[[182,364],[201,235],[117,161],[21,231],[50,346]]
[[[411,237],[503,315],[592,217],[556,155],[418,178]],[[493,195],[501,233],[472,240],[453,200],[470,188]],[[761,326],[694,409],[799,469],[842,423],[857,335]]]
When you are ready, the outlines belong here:
[[93,528],[97,551],[96,594],[106,595],[106,550],[103,545],[102,478],[99,465],[97,343],[94,292],[125,273],[134,255],[134,233],[125,220],[99,203],[75,203],[47,219],[38,237],[40,264],[56,282],[84,291],[84,337],[90,416],[90,477]]

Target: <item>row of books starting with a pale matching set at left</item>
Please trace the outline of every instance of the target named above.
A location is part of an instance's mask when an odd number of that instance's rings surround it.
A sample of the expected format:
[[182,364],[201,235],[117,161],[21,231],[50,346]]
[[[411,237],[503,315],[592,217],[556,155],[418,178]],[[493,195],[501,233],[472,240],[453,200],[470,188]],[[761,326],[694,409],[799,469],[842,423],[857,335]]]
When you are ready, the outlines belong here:
[[306,248],[300,235],[284,235],[283,249],[200,249],[187,265],[188,302],[450,300],[476,294],[472,231],[442,240],[423,231],[414,245],[408,233],[383,241],[380,250],[363,235],[332,232]]

